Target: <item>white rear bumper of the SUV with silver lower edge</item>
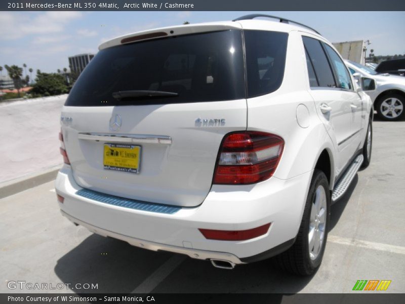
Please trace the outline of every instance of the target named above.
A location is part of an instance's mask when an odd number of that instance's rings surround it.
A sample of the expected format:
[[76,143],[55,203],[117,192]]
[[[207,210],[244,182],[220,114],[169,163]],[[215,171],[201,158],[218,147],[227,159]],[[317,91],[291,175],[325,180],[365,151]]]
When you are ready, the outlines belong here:
[[[91,232],[145,249],[240,264],[267,258],[291,246],[311,176],[312,172],[307,172],[289,180],[271,177],[254,185],[213,185],[203,204],[180,208],[174,214],[135,210],[79,196],[77,191],[82,187],[74,181],[68,165],[58,173],[55,185],[56,192],[64,197],[64,203],[59,203],[62,214]],[[271,225],[265,235],[246,241],[207,240],[198,231],[248,230],[266,223]]]

